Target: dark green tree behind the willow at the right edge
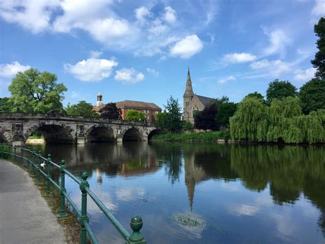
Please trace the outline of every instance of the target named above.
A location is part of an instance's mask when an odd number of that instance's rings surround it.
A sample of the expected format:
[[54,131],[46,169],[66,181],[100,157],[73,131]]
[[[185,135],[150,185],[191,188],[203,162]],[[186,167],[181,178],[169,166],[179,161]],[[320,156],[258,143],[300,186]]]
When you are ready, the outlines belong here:
[[313,78],[300,87],[299,98],[305,114],[325,109],[325,80]]

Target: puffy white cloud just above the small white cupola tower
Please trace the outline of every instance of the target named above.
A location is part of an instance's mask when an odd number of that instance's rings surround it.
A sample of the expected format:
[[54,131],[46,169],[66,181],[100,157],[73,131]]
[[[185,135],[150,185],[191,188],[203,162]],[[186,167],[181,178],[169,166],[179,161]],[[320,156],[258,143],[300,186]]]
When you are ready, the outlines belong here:
[[65,64],[64,70],[73,74],[78,80],[99,81],[108,78],[112,68],[117,65],[118,63],[114,60],[88,58],[75,65]]

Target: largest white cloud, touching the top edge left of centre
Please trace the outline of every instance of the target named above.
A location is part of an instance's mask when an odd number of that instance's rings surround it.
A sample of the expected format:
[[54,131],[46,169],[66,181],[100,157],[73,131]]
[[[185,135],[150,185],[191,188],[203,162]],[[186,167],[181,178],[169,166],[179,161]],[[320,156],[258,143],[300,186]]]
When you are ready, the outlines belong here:
[[136,29],[127,20],[115,17],[111,4],[106,0],[64,0],[60,3],[63,14],[53,21],[53,31],[83,30],[107,46],[127,47]]

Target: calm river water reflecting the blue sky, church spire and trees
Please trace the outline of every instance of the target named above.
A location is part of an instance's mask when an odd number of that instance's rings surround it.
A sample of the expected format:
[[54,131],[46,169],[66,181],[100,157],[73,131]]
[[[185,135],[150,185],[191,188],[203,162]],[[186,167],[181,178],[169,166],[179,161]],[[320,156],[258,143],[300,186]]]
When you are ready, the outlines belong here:
[[[148,243],[325,243],[325,147],[142,143],[38,145]],[[55,174],[55,173],[53,173]],[[67,179],[80,206],[81,193]],[[88,200],[99,243],[123,243]]]

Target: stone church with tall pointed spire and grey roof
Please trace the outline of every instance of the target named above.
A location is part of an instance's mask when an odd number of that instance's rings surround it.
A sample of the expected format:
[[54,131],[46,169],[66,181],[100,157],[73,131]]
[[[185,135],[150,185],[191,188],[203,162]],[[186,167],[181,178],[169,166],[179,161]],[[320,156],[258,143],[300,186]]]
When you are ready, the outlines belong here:
[[193,93],[191,75],[188,69],[186,88],[183,95],[183,120],[194,124],[193,114],[195,114],[197,111],[202,111],[204,107],[211,102],[211,100],[213,100],[213,98],[207,98]]

